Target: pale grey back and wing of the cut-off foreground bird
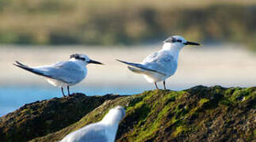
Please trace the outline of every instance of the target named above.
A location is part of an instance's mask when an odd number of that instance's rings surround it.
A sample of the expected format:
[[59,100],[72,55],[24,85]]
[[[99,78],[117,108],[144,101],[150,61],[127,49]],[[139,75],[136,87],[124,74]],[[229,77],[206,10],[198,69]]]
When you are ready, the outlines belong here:
[[108,137],[105,134],[105,129],[86,127],[85,129],[78,129],[74,133],[71,133],[64,137],[61,142],[107,142]]

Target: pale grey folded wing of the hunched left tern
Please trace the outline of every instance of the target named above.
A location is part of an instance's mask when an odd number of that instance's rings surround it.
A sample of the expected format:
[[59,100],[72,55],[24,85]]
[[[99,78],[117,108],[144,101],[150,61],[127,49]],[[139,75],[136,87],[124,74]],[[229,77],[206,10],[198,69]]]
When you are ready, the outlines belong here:
[[77,83],[86,76],[80,66],[74,62],[58,62],[55,65],[36,67],[35,69],[42,71],[45,76],[65,83]]

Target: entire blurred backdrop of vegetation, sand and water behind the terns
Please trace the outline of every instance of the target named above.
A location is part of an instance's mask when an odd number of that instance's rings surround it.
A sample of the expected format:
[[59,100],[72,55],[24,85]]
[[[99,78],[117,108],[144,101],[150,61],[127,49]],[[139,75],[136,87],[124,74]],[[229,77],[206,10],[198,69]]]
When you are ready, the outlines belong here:
[[62,96],[15,60],[49,65],[87,54],[106,65],[88,65],[86,80],[71,92],[132,95],[154,84],[115,59],[141,62],[174,35],[202,45],[181,51],[167,88],[255,86],[255,15],[254,0],[0,0],[0,116]]

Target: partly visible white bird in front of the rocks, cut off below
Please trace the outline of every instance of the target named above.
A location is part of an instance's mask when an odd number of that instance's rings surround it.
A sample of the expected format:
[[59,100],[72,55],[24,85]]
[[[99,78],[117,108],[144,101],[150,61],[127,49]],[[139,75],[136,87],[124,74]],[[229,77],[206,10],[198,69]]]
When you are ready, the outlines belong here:
[[124,115],[124,107],[114,107],[101,121],[68,134],[60,142],[113,142],[116,138],[118,124]]

